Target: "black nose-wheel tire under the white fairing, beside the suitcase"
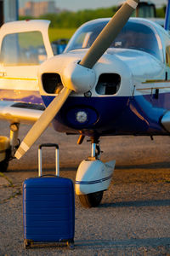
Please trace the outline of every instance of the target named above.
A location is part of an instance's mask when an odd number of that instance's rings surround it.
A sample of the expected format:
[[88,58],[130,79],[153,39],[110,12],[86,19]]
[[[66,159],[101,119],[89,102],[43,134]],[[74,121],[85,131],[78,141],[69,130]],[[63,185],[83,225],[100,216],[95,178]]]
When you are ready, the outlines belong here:
[[102,201],[104,191],[94,192],[87,195],[78,195],[82,207],[98,207]]

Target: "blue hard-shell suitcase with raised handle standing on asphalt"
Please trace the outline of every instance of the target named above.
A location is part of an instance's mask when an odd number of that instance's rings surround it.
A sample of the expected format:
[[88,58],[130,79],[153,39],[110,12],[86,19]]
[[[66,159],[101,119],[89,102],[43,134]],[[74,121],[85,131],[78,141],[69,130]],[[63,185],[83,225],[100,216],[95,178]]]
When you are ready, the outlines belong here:
[[[56,148],[56,176],[42,176],[42,147]],[[23,183],[24,244],[65,241],[74,247],[75,198],[71,179],[59,177],[57,144],[38,148],[38,175]]]

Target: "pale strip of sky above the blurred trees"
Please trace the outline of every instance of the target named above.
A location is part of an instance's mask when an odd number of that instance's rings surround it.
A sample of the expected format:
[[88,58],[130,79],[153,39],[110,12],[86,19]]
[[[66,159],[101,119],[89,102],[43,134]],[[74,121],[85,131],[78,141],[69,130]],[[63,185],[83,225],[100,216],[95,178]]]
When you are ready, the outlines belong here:
[[[20,7],[27,1],[42,2],[42,0],[19,0]],[[48,0],[46,0],[48,1]],[[56,6],[59,9],[68,9],[71,11],[77,11],[79,9],[98,9],[107,8],[113,5],[118,5],[122,0],[54,0]],[[154,0],[152,3],[156,3],[157,7],[162,4],[166,4],[167,0]]]

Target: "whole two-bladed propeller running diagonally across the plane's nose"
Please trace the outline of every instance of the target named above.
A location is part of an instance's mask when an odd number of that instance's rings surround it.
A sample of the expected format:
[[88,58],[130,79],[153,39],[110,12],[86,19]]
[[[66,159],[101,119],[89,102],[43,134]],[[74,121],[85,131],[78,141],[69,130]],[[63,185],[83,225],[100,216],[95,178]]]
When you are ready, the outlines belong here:
[[[116,12],[116,15],[112,17],[102,32],[100,32],[98,38],[94,41],[94,44],[92,44],[90,49],[88,49],[87,54],[82,58],[82,61],[80,61],[80,65],[78,65],[79,67],[82,66],[85,69],[91,69],[94,67],[95,63],[99,61],[99,58],[105,53],[105,50],[110,47],[116,36],[121,32],[122,27],[125,26],[138,3],[139,0],[127,0],[122,5],[122,8]],[[76,73],[77,71],[78,70],[75,69],[73,70],[73,73]],[[79,76],[77,77],[79,78]],[[31,130],[28,131],[23,142],[20,144],[20,147],[14,154],[17,159],[20,159],[20,157],[25,154],[29,148],[31,148],[31,145],[37,141],[37,138],[41,136],[42,132],[45,131],[50,122],[54,119],[54,116],[65,103],[68,96],[71,94],[71,91],[82,91],[82,88],[79,90],[78,81],[76,81],[75,86],[74,81],[69,82],[68,79],[72,79],[71,76],[66,79],[64,78],[64,88],[59,92],[59,95],[54,98],[53,102],[48,105],[48,108],[45,109],[41,117],[31,127]],[[85,80],[85,82],[87,82],[87,80]],[[90,86],[92,87],[92,84]],[[88,90],[88,86],[85,84],[83,87],[84,92]]]

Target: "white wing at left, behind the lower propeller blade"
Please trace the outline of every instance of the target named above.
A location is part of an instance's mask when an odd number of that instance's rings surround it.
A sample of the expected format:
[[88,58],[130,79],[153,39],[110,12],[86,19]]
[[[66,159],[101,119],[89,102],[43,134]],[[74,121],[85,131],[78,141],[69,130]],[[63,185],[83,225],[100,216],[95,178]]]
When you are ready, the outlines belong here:
[[44,109],[42,104],[0,101],[0,119],[31,124],[40,118]]

